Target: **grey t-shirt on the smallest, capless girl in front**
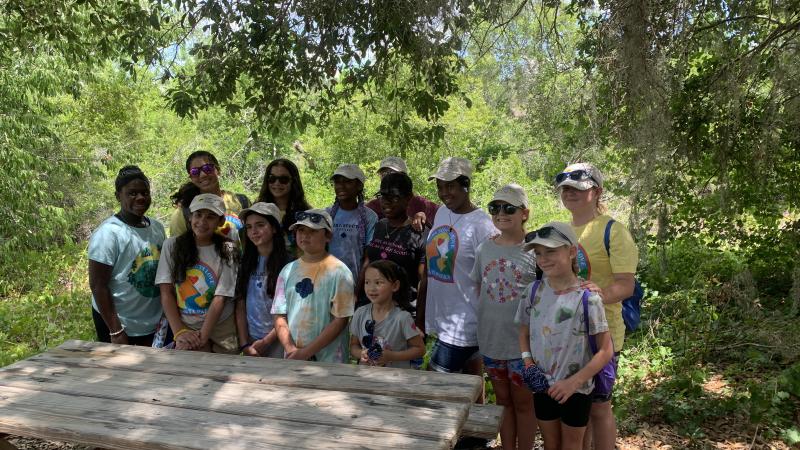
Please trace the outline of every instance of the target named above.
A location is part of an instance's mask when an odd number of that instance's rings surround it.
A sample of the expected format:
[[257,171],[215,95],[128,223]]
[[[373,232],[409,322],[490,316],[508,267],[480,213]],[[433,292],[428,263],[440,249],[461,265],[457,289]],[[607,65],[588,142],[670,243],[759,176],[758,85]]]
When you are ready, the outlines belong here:
[[[368,320],[372,320],[372,303],[358,308],[353,314],[353,320],[350,321],[350,334],[358,338],[358,342],[363,348],[366,348],[365,345],[371,345],[371,343],[364,342],[364,338],[367,336],[366,323]],[[408,311],[403,311],[395,306],[383,320],[375,323],[372,336],[384,350],[402,352],[408,350],[408,340],[415,336],[422,336],[422,332],[417,329],[414,319]],[[353,356],[357,357],[358,355]],[[414,368],[411,361],[391,361],[386,363],[386,367]]]

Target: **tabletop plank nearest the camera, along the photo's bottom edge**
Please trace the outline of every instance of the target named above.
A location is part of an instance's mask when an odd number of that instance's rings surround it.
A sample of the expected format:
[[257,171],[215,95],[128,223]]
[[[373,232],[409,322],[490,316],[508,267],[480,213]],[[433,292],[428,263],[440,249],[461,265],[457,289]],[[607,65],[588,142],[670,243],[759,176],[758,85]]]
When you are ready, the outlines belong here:
[[213,411],[76,397],[16,387],[0,390],[0,429],[21,436],[116,449],[447,448],[394,433],[298,424]]

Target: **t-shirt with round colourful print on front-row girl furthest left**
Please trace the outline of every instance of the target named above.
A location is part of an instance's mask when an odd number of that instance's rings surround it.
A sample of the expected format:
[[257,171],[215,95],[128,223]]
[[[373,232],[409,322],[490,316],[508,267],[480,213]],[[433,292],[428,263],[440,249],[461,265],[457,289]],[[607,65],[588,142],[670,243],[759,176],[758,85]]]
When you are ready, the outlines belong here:
[[[232,242],[225,245],[233,246]],[[186,270],[186,277],[180,284],[172,278],[174,260],[172,251],[175,238],[164,241],[161,260],[158,263],[156,284],[175,284],[175,296],[181,320],[190,328],[197,329],[203,325],[211,300],[215,296],[225,297],[225,307],[217,323],[233,314],[233,295],[236,290],[237,268],[225,262],[217,254],[214,245],[198,246],[198,261]]]

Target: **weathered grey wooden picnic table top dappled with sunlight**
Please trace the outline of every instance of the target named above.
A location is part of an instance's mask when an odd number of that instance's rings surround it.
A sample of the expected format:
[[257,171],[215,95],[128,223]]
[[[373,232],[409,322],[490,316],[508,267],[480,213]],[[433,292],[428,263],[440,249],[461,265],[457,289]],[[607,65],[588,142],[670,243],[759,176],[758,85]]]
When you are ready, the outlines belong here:
[[451,448],[481,383],[67,341],[0,368],[0,433],[120,449]]

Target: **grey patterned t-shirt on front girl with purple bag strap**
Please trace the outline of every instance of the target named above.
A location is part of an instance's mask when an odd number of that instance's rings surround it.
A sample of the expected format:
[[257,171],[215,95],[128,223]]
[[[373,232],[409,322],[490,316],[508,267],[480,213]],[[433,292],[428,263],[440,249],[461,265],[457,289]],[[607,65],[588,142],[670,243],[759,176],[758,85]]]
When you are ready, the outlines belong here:
[[[574,375],[594,356],[586,337],[586,319],[581,301],[583,290],[576,285],[556,293],[545,279],[531,302],[530,291],[533,286],[534,283],[531,283],[525,291],[524,300],[519,302],[514,321],[517,325],[528,325],[533,360],[552,385]],[[588,303],[589,333],[595,335],[608,331],[600,296],[589,295]],[[588,395],[593,389],[594,380],[590,378],[577,392]]]

